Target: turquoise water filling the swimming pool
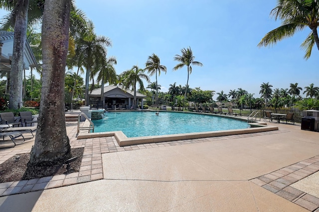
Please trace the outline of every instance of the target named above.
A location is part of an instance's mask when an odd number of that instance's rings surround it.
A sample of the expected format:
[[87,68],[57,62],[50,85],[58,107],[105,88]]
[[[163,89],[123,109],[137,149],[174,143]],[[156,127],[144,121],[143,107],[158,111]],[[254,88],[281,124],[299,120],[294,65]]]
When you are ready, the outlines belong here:
[[249,128],[246,121],[184,112],[130,111],[106,112],[92,120],[94,132],[122,131],[127,137],[168,135]]

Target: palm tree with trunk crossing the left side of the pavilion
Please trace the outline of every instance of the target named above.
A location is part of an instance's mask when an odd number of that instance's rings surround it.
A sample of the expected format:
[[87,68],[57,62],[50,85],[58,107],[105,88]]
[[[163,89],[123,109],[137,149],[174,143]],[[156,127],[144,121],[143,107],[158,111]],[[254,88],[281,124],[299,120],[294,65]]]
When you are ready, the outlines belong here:
[[98,63],[100,64],[100,71],[98,73],[97,82],[101,82],[101,106],[104,106],[104,84],[113,83],[116,80],[116,71],[114,65],[117,64],[115,57],[103,58]]

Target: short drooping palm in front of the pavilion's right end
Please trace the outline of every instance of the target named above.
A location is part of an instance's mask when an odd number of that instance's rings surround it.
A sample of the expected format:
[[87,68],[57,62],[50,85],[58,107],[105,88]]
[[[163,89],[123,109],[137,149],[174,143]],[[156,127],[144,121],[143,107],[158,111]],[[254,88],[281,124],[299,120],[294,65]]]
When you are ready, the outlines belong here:
[[144,73],[144,69],[141,69],[138,66],[133,66],[132,69],[125,71],[123,75],[125,76],[123,82],[124,88],[132,88],[132,90],[134,90],[133,108],[136,109],[136,86],[139,84],[140,89],[143,89],[143,79],[150,82],[150,78]]

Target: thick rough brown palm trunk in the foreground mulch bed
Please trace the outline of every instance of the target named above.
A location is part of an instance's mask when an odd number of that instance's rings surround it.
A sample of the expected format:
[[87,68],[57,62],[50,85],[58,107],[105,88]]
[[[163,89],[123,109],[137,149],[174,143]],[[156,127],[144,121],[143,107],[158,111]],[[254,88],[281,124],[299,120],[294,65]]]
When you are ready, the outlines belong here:
[[62,164],[70,142],[64,115],[64,78],[71,0],[45,0],[42,22],[43,77],[38,126],[28,166]]

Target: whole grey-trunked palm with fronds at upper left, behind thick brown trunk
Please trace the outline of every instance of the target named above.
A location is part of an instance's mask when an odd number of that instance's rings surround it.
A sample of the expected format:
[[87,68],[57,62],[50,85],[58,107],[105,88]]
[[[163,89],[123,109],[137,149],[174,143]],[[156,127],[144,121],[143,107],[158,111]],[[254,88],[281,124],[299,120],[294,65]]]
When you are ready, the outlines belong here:
[[[13,70],[13,73],[10,72],[12,80],[9,86],[12,87],[12,89],[10,89],[10,107],[17,108],[22,96],[21,72],[23,69],[23,52],[25,39],[27,37],[27,24],[28,26],[32,26],[42,20],[44,0],[1,0],[0,7],[10,11],[10,13],[4,17],[5,22],[2,23],[2,29],[11,29],[12,26],[14,29],[13,56],[11,62],[11,70]],[[70,32],[73,32],[71,34],[74,34],[75,31],[79,31],[78,29],[83,29],[83,27],[82,22],[79,21],[81,18],[80,10],[75,8],[72,1],[70,7],[73,14],[71,15],[71,22],[77,23],[71,24],[72,27],[70,28]],[[34,51],[32,46],[31,49]],[[39,58],[41,57],[37,57],[39,55],[41,54],[35,54],[37,61],[39,61]],[[36,71],[40,71],[39,67]],[[8,79],[10,78],[11,77],[8,77]]]

